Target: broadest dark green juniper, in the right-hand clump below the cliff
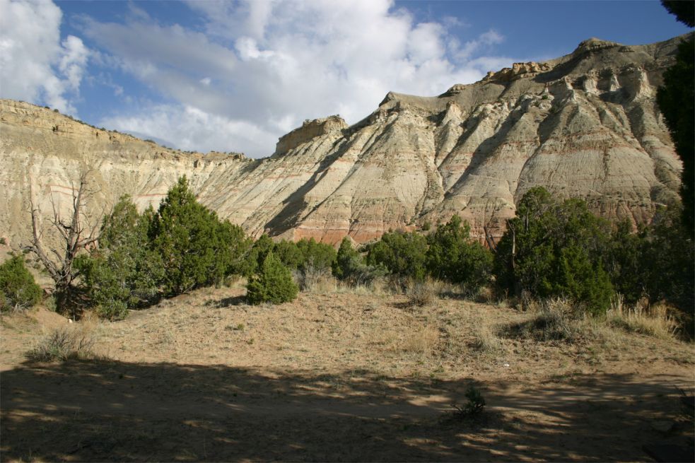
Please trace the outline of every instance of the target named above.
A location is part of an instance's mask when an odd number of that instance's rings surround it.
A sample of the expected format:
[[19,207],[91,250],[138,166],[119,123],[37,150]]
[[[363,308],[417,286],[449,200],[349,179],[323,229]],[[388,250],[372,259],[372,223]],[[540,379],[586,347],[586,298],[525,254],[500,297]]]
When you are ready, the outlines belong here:
[[507,293],[572,298],[592,313],[607,310],[612,287],[603,268],[608,224],[578,199],[558,203],[530,189],[497,246],[494,274]]

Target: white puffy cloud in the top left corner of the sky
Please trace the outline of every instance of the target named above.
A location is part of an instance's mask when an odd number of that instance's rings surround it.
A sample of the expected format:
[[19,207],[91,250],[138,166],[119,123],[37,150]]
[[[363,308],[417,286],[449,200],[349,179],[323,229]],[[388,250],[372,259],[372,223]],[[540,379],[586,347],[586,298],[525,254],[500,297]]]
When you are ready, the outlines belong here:
[[62,11],[51,1],[0,0],[0,95],[76,113],[89,50],[60,40]]

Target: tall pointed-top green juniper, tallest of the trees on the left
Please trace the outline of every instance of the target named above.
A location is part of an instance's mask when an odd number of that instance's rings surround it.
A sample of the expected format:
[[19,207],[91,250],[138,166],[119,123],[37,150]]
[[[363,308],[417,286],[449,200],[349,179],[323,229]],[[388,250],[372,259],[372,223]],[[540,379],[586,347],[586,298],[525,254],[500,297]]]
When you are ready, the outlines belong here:
[[196,201],[181,177],[169,190],[152,223],[153,249],[165,271],[163,288],[176,295],[220,283],[230,267],[225,235],[230,228]]

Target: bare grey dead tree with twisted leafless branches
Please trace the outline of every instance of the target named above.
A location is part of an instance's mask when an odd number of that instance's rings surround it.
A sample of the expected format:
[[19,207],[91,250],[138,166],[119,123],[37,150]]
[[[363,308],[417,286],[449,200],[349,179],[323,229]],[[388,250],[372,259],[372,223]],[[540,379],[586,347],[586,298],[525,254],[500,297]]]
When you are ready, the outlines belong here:
[[[87,250],[99,240],[100,228],[93,224],[88,227],[89,221],[84,208],[86,202],[88,172],[80,175],[79,188],[72,189],[72,211],[70,218],[61,216],[59,208],[54,201],[52,225],[60,235],[62,250],[49,247],[48,252],[42,243],[42,233],[39,225],[40,210],[34,204],[33,194],[30,189],[30,209],[31,209],[31,228],[33,240],[30,245],[23,246],[23,249],[36,254],[45,266],[49,276],[53,279],[54,297],[56,307],[61,312],[69,312],[72,317],[78,313],[78,304],[75,298],[75,283],[79,276],[78,269],[75,268],[75,259],[78,254]],[[50,252],[50,254],[49,254]]]

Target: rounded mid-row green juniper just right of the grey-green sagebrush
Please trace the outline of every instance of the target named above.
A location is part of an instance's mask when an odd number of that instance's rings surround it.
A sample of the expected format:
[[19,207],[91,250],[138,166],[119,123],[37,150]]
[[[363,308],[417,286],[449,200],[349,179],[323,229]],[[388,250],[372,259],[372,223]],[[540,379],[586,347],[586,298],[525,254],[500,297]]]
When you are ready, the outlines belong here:
[[367,264],[383,265],[392,275],[421,281],[426,275],[426,252],[427,240],[423,235],[402,231],[385,233],[370,246]]

